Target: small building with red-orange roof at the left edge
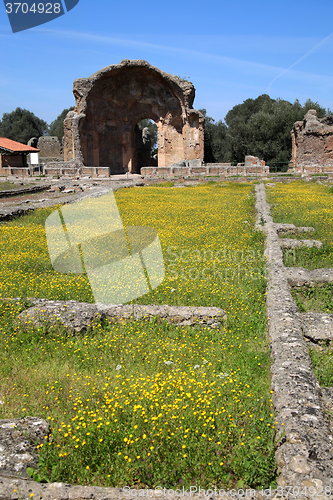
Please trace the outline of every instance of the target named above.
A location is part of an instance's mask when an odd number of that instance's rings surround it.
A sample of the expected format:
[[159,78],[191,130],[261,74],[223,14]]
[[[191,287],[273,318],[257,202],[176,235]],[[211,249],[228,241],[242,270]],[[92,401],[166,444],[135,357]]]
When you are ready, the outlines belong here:
[[0,137],[0,175],[30,175],[28,155],[32,153],[39,149]]

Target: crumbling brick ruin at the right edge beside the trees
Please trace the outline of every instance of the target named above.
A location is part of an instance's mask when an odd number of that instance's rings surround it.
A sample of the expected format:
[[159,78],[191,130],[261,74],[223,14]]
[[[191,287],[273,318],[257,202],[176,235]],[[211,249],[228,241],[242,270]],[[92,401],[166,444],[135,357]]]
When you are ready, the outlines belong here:
[[333,116],[317,118],[310,109],[291,131],[292,162],[297,172],[333,172]]

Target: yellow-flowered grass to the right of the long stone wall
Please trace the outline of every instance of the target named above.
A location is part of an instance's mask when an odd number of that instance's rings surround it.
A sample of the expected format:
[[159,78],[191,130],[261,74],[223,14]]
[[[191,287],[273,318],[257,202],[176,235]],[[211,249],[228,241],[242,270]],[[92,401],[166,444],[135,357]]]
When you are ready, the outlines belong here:
[[[299,248],[285,250],[286,266],[305,269],[333,268],[333,190],[315,182],[276,184],[266,188],[274,222],[296,226],[311,226],[315,232],[303,233],[297,238],[314,238],[323,242],[320,249]],[[290,235],[286,235],[291,237]],[[305,285],[292,290],[300,312],[333,313],[333,285]],[[310,349],[315,375],[321,386],[333,386],[333,350],[330,345]]]

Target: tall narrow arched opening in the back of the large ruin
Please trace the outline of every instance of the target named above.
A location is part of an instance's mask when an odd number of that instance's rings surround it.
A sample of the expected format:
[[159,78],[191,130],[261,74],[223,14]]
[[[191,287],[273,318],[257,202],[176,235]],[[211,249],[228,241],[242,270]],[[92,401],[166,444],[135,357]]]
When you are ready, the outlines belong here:
[[156,167],[158,164],[158,133],[156,123],[144,118],[134,127],[135,154],[134,169],[140,173],[142,167]]

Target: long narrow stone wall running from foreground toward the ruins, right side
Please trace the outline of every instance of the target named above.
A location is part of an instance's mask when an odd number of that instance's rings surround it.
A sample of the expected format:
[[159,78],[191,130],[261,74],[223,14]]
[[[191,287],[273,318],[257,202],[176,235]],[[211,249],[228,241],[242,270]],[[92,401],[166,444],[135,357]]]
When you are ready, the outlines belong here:
[[[276,461],[280,488],[298,488],[296,498],[317,499],[325,487],[333,492],[333,436],[324,411],[321,388],[314,376],[304,338],[306,317],[300,317],[290,287],[295,275],[307,282],[309,273],[323,278],[320,270],[286,268],[279,233],[306,232],[292,224],[274,224],[265,200],[264,185],[256,186],[257,228],[266,233],[268,335],[272,349],[272,389],[277,442]],[[264,225],[261,222],[264,221]],[[331,270],[332,276],[332,270]],[[293,278],[292,278],[293,277]],[[300,492],[303,491],[303,494]],[[294,498],[294,496],[288,496]]]

